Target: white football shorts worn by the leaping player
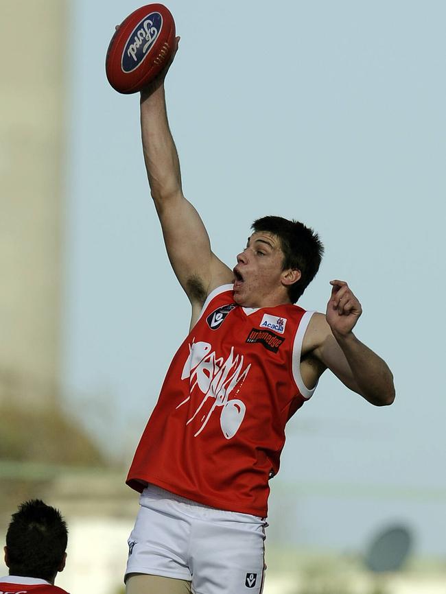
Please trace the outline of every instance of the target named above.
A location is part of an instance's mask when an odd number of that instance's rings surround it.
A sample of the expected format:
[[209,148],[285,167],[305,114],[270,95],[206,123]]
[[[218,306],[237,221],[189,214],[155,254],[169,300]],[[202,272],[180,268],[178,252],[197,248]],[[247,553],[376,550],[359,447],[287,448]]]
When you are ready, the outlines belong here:
[[192,594],[260,594],[266,519],[217,510],[154,485],[141,493],[128,573],[191,582]]

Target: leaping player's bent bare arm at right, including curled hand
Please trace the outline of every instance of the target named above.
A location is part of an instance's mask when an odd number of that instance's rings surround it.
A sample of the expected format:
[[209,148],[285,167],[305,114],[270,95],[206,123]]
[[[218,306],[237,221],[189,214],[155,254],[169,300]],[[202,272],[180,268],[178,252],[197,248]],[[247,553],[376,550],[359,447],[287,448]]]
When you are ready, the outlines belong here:
[[312,319],[312,354],[348,388],[376,406],[395,400],[393,375],[386,361],[353,334],[362,307],[344,281],[331,281],[325,316]]

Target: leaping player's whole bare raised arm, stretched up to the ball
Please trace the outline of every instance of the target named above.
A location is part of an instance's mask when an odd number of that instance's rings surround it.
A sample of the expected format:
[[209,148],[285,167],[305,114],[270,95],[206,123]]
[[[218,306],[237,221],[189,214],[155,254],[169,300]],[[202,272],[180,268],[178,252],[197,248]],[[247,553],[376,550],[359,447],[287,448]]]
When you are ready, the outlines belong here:
[[141,93],[143,153],[169,261],[194,317],[215,287],[232,281],[233,272],[211,251],[200,215],[183,195],[178,153],[167,121],[166,73],[167,69]]

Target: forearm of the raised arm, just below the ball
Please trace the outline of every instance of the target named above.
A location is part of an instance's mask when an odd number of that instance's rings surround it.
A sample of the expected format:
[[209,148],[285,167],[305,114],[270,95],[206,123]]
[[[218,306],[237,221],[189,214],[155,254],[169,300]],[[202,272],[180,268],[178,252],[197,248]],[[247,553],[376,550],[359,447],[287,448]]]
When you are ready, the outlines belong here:
[[157,207],[163,200],[181,192],[178,153],[169,129],[164,86],[141,95],[141,136],[145,168]]

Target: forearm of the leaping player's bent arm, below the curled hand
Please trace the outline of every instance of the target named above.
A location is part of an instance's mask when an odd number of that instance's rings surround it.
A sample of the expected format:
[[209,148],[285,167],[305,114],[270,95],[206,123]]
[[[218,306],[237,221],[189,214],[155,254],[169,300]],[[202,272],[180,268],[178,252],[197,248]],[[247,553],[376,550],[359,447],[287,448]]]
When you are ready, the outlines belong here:
[[344,353],[360,393],[376,406],[392,404],[395,400],[393,375],[386,361],[350,332],[333,333]]

